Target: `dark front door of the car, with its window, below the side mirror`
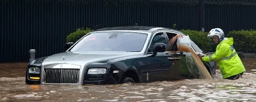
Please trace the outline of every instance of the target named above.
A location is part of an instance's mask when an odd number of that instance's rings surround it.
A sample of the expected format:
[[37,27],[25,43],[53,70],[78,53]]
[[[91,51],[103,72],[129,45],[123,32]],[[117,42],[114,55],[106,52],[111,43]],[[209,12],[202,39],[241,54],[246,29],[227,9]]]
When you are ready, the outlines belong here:
[[149,81],[168,81],[175,79],[175,59],[172,55],[165,52],[157,53],[156,56],[151,56],[153,53],[154,43],[164,43],[167,46],[167,51],[170,49],[168,38],[164,32],[156,32],[148,47],[147,55],[149,59]]

